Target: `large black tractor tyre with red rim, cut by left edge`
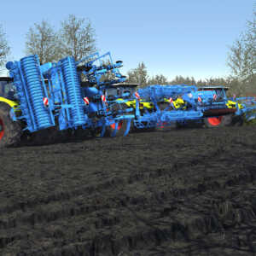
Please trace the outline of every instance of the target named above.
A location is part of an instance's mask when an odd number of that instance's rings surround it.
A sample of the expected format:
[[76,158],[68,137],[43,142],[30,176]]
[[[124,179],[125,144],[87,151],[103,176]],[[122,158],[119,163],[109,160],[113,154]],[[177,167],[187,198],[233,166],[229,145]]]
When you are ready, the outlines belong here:
[[16,146],[20,143],[20,124],[11,119],[10,109],[8,104],[0,102],[0,148]]

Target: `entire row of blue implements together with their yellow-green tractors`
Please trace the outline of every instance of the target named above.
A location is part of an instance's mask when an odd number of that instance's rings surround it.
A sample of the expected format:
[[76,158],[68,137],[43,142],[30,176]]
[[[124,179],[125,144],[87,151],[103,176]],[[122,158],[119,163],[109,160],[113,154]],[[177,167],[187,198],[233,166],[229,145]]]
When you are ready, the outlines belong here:
[[224,86],[156,84],[135,91],[136,84],[123,84],[122,61],[113,62],[109,52],[43,65],[30,55],[6,67],[9,78],[0,79],[0,147],[41,131],[47,137],[51,131],[115,137],[127,135],[131,126],[217,127],[256,119],[256,99],[229,99]]

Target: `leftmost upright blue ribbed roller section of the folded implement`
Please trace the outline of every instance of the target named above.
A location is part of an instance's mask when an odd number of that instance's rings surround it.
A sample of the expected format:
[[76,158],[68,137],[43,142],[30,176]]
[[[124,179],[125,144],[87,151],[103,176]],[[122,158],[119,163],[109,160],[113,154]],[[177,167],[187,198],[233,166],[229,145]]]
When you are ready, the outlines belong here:
[[53,113],[44,108],[43,98],[47,96],[44,79],[39,68],[37,55],[30,55],[20,61],[8,62],[10,77],[14,78],[22,114],[15,119],[26,121],[25,130],[38,131],[55,125]]

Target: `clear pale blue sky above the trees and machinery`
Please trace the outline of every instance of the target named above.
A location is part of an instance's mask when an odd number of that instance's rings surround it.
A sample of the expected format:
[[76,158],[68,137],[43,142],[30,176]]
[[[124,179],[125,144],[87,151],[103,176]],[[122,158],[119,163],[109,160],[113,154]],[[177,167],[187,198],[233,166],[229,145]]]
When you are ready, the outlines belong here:
[[26,32],[48,20],[55,28],[73,14],[88,18],[96,46],[123,73],[144,61],[149,75],[195,79],[229,75],[229,46],[252,20],[256,0],[12,0],[1,1],[1,20],[11,46],[9,60],[25,56]]

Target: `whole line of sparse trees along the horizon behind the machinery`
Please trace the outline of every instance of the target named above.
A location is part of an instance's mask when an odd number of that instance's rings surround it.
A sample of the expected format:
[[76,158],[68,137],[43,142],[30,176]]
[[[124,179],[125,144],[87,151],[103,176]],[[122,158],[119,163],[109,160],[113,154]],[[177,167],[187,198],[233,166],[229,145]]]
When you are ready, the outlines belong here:
[[[69,15],[61,21],[60,29],[55,30],[48,21],[35,23],[26,33],[26,55],[38,55],[41,63],[58,61],[67,55],[73,55],[76,61],[96,51],[96,32],[90,20],[79,19]],[[0,65],[2,66],[10,53],[10,47],[0,26]],[[230,46],[227,56],[230,76],[195,80],[193,77],[176,76],[169,81],[163,74],[149,77],[144,62],[127,72],[127,82],[143,87],[148,84],[223,84],[231,88],[231,92],[255,93],[256,91],[256,11],[253,20],[247,20],[246,30]]]

